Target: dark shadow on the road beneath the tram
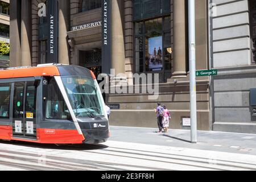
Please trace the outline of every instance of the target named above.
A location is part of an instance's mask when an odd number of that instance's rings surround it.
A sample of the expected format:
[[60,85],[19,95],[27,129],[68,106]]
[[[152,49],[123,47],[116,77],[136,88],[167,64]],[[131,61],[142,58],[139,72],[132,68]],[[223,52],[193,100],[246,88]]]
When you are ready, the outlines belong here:
[[41,143],[29,143],[19,141],[4,141],[0,140],[2,144],[10,144],[15,146],[32,147],[32,148],[43,148],[43,149],[56,149],[56,150],[101,150],[108,148],[104,144],[41,144]]

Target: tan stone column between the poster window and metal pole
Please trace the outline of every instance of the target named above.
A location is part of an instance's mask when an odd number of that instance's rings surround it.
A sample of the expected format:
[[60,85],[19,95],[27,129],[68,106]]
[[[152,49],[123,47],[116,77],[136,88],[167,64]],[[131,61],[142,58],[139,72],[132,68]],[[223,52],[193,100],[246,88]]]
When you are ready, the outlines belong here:
[[187,41],[186,41],[185,0],[174,0],[174,73],[172,77],[186,77]]

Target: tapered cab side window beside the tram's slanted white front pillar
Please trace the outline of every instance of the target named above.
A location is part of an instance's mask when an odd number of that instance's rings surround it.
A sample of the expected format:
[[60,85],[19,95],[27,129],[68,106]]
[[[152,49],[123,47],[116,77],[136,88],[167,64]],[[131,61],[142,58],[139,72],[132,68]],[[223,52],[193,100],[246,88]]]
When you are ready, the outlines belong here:
[[46,118],[71,119],[67,104],[64,101],[55,78],[51,78],[47,85]]

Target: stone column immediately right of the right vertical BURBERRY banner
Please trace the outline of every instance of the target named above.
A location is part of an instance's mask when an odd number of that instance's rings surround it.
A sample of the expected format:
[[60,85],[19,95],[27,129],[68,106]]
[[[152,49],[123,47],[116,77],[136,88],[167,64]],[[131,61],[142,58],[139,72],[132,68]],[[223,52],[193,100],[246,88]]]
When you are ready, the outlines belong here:
[[125,75],[125,41],[123,37],[123,0],[112,0],[112,69]]

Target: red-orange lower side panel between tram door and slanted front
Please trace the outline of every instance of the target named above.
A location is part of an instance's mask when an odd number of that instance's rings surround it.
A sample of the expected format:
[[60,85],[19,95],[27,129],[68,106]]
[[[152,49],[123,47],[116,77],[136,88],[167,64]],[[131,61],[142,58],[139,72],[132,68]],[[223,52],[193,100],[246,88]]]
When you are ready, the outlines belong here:
[[77,130],[60,129],[37,129],[40,143],[82,143],[84,135],[80,135]]

